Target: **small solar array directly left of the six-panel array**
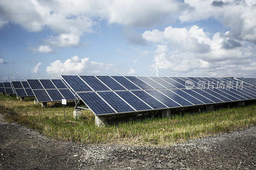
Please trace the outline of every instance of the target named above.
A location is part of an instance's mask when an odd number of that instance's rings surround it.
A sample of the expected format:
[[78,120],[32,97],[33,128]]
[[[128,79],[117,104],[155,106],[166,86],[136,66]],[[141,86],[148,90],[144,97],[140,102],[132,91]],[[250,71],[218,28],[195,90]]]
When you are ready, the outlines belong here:
[[18,97],[34,97],[27,81],[12,81],[12,86]]

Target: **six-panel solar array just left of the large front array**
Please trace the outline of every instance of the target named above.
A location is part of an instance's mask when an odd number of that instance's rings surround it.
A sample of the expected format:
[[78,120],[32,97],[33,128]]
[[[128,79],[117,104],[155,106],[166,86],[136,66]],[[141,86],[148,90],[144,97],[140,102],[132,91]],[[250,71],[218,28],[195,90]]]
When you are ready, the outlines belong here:
[[38,102],[75,100],[75,94],[60,79],[27,79]]

